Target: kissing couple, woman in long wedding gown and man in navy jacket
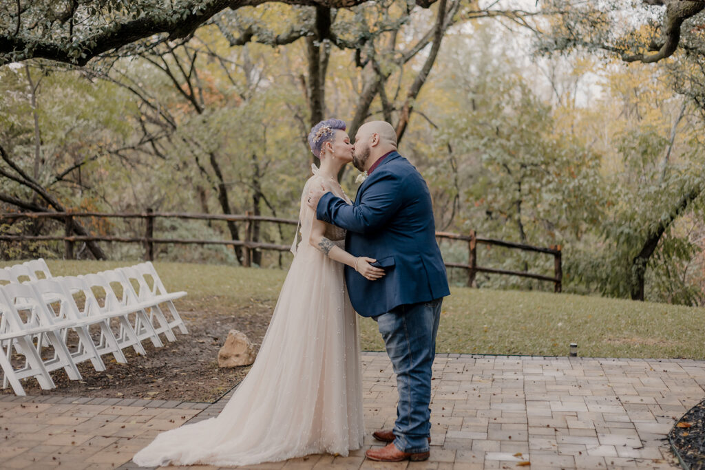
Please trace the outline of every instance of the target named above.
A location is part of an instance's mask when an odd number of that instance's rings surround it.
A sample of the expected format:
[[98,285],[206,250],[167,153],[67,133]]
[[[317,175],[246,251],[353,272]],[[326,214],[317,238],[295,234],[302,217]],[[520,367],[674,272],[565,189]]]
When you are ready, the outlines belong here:
[[[450,294],[426,182],[384,121],[364,123],[355,145],[338,119],[314,125],[321,161],[304,185],[294,259],[255,364],[219,416],[166,431],[133,457],[140,466],[250,465],[362,447],[357,317],[379,326],[397,376],[383,462],[425,460],[431,441],[431,365],[443,297]],[[355,202],[337,175],[367,175]],[[298,242],[298,243],[297,243]]]

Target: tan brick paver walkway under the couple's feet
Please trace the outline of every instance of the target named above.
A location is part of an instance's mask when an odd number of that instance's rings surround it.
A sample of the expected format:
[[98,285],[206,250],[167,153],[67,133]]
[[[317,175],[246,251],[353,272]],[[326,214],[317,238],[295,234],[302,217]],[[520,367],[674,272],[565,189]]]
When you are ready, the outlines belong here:
[[[393,423],[396,381],[384,353],[363,353],[363,366],[371,433]],[[363,449],[249,468],[678,468],[663,439],[705,395],[705,361],[440,354],[433,383],[428,462],[377,464]],[[0,468],[135,469],[130,458],[157,433],[215,416],[229,396],[202,404],[6,395]],[[364,444],[379,445],[369,435]]]

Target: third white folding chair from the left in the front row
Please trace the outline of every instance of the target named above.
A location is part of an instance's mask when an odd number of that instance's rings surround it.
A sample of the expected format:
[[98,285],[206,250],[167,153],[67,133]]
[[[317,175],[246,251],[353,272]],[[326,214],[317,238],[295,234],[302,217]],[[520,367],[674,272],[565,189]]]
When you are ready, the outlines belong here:
[[[80,364],[83,361],[91,361],[95,370],[104,371],[105,364],[100,358],[88,330],[91,323],[80,318],[73,297],[66,292],[61,283],[52,278],[39,279],[29,285],[35,289],[37,297],[42,299],[42,303],[46,307],[47,321],[61,333],[63,343],[71,352],[73,363]],[[73,351],[71,351],[71,345],[68,344],[69,330],[73,330],[78,335],[78,342]]]

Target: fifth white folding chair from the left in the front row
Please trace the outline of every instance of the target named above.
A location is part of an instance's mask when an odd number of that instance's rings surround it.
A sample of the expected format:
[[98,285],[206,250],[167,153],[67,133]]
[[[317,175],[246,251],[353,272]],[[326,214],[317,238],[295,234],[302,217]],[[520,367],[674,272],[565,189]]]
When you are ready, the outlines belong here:
[[[145,348],[142,347],[141,339],[135,333],[135,328],[130,323],[130,314],[133,314],[132,309],[123,305],[110,283],[103,276],[92,273],[78,276],[78,279],[85,283],[88,292],[90,292],[90,297],[94,300],[92,303],[100,314],[117,319],[120,326],[117,341],[121,349],[131,346],[137,354],[142,354],[142,356],[147,354]],[[86,293],[86,298],[88,299],[88,297],[89,294]]]

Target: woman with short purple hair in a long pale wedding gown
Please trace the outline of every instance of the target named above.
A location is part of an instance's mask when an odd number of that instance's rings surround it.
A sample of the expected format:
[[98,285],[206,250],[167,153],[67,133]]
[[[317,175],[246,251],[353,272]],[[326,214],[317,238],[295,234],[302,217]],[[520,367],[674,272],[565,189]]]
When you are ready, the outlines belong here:
[[321,121],[308,142],[321,167],[313,167],[302,192],[302,243],[297,247],[297,234],[255,364],[219,416],[161,433],[135,454],[135,464],[249,465],[316,453],[345,456],[362,445],[360,345],[343,264],[369,280],[384,271],[370,266],[374,259],[345,252],[345,230],[318,221],[305,202],[317,184],[350,203],[336,178],[353,160],[345,123]]

